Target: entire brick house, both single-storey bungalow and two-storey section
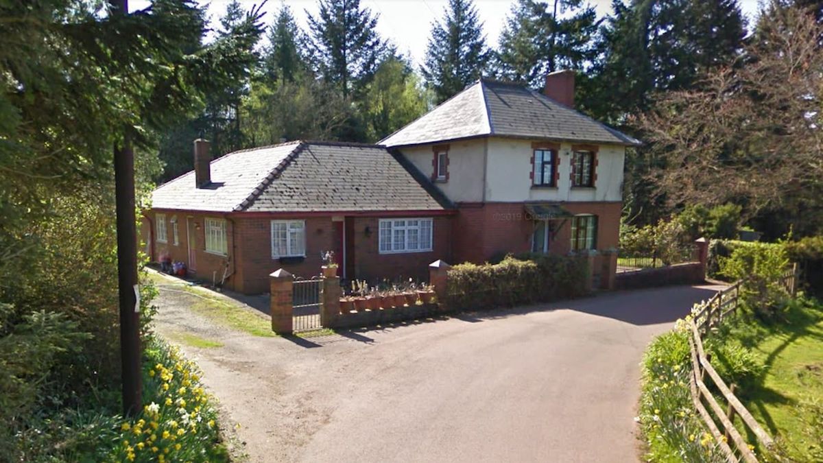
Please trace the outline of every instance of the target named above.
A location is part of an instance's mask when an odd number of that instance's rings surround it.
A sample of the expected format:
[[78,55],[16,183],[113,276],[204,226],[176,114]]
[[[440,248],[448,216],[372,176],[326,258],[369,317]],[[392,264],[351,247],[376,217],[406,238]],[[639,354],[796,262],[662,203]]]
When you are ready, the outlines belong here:
[[278,268],[310,277],[333,250],[343,278],[425,278],[434,260],[509,252],[591,255],[616,269],[625,148],[635,138],[574,110],[574,72],[544,94],[481,79],[379,144],[292,142],[215,161],[160,185],[144,213],[153,260],[267,291]]

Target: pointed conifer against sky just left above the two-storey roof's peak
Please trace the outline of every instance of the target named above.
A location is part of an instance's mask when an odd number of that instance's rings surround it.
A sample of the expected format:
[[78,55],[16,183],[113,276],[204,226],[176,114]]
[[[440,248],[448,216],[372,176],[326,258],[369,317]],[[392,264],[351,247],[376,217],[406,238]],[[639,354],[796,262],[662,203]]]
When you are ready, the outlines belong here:
[[486,72],[491,54],[472,0],[449,0],[444,17],[431,27],[423,77],[441,103]]

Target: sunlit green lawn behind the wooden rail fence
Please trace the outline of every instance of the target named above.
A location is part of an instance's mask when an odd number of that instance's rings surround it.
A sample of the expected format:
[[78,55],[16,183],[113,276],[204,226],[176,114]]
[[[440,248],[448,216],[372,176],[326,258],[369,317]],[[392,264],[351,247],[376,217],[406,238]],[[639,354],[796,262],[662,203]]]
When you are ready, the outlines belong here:
[[730,336],[751,349],[762,367],[738,394],[746,408],[788,460],[823,461],[823,304],[797,302],[784,322],[750,320]]

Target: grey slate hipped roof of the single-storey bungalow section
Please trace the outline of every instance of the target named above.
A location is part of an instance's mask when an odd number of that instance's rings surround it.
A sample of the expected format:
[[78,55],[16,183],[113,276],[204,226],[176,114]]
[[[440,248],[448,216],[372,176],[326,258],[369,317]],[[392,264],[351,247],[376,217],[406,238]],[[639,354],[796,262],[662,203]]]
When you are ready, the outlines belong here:
[[292,142],[232,152],[211,168],[209,187],[196,188],[190,171],[155,189],[151,207],[226,213],[452,208],[420,171],[379,145]]

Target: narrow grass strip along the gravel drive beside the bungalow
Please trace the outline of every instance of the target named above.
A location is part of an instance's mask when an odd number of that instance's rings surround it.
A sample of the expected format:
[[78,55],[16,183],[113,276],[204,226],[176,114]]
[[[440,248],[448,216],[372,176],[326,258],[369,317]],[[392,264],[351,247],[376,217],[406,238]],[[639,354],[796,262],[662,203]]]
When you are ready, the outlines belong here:
[[178,281],[156,273],[150,273],[149,278],[152,282],[156,283],[156,285],[165,289],[183,291],[194,297],[198,297],[198,302],[191,305],[192,311],[212,320],[218,325],[229,326],[235,330],[263,338],[277,336],[277,334],[272,332],[272,323],[270,320],[254,313],[244,306],[224,301],[200,288],[179,283]]

